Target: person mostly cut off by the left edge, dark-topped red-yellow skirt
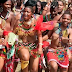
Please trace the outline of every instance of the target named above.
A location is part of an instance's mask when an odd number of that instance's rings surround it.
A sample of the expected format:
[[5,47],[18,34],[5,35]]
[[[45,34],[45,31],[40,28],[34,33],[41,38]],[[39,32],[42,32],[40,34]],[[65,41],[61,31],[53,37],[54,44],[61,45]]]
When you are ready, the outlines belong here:
[[3,71],[4,60],[6,60],[6,53],[7,48],[4,45],[4,37],[3,37],[3,30],[2,30],[2,19],[0,18],[0,72]]

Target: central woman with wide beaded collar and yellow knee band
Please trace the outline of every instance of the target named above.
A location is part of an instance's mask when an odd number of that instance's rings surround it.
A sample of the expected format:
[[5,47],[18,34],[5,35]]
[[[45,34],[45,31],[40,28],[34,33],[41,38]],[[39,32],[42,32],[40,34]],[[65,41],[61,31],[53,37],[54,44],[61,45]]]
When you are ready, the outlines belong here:
[[[42,35],[36,31],[36,21],[32,18],[33,8],[25,7],[23,16],[14,33],[18,35],[17,55],[21,60],[22,72],[28,72],[28,65],[31,72],[38,72],[39,54],[42,53]],[[38,42],[36,37],[38,35]]]

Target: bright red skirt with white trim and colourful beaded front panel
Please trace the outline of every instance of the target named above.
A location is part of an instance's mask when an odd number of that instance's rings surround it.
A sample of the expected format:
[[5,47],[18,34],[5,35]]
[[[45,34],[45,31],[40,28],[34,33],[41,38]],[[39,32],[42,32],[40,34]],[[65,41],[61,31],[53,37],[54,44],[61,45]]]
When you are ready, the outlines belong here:
[[47,53],[48,62],[55,61],[62,68],[68,68],[69,58],[67,55],[67,49],[53,49],[49,48]]

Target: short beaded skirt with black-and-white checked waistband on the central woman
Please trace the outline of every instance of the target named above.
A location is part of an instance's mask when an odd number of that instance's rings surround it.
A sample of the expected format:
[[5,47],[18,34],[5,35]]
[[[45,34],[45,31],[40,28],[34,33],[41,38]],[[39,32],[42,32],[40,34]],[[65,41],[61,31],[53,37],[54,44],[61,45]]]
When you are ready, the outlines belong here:
[[29,49],[29,53],[31,56],[34,58],[39,57],[40,55],[38,54],[38,46],[35,43],[20,43],[17,46],[16,49],[16,54],[22,49],[22,48],[27,48]]

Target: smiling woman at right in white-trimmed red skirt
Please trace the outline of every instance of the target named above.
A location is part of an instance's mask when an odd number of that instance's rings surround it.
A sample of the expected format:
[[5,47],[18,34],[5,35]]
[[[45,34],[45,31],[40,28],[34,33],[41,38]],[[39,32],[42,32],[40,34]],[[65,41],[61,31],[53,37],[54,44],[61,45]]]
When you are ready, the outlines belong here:
[[[62,24],[49,31],[48,36],[52,36],[51,45],[48,47],[47,59],[50,65],[50,72],[57,72],[58,65],[61,72],[67,72],[69,66],[68,44],[72,43],[72,29],[68,27],[71,22],[71,14],[65,12],[62,16]],[[51,35],[50,35],[51,34]]]

